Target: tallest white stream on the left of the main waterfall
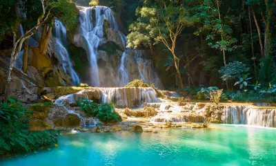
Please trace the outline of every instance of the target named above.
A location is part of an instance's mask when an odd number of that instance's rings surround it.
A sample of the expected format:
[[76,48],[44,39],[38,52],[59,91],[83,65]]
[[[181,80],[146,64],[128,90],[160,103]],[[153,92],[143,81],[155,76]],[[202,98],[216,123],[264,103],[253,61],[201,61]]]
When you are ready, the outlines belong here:
[[97,52],[99,42],[103,40],[103,23],[105,19],[108,20],[110,26],[115,30],[118,29],[118,25],[110,8],[105,6],[79,6],[79,15],[79,34],[81,36],[75,35],[74,42],[77,45],[84,45],[86,53],[88,54],[91,67],[91,86],[100,86]]

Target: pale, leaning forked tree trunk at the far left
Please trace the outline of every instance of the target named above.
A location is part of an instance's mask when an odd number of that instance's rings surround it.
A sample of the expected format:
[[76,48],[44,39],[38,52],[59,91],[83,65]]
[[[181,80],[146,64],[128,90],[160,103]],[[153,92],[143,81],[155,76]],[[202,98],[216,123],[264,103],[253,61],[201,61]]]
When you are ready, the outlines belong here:
[[[28,30],[24,35],[19,37],[19,39],[17,39],[16,29],[11,28],[12,33],[14,35],[13,35],[12,54],[10,56],[10,67],[9,67],[9,71],[8,71],[8,77],[7,77],[6,89],[5,89],[5,100],[6,101],[8,101],[8,98],[9,98],[10,81],[12,79],[11,75],[12,75],[12,68],[14,66],[14,60],[19,55],[23,42],[26,39],[28,39],[29,37],[31,37],[35,33],[37,28],[39,28],[39,26],[41,26],[41,24],[48,21],[50,12],[52,11],[52,9],[57,8],[57,6],[59,6],[59,2],[51,2],[51,3],[45,4],[44,0],[41,0],[41,5],[42,5],[43,12],[42,12],[42,15],[38,18],[37,24],[34,27],[32,27],[30,30]],[[47,6],[45,6],[45,5],[47,5]]]

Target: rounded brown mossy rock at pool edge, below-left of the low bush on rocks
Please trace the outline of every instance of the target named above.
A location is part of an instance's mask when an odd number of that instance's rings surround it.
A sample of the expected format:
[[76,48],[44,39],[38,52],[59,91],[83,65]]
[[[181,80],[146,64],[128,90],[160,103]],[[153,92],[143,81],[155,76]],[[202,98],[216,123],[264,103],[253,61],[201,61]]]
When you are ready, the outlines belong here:
[[79,126],[81,124],[81,120],[76,114],[69,113],[66,118],[54,120],[54,124],[59,127]]

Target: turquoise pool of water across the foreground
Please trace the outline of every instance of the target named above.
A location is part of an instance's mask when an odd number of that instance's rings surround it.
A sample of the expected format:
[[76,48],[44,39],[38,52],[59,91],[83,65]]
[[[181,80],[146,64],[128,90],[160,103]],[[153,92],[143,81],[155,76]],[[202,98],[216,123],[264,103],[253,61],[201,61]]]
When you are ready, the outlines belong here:
[[276,130],[161,129],[158,133],[62,133],[59,148],[0,165],[276,165]]

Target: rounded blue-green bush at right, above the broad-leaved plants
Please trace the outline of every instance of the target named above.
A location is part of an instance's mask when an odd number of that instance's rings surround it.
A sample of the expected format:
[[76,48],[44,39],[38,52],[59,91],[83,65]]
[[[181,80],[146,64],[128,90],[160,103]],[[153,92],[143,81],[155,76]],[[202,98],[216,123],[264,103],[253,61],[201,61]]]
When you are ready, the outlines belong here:
[[226,80],[235,80],[237,77],[242,77],[242,75],[249,71],[249,68],[246,64],[242,62],[234,61],[222,66],[219,70],[219,73],[222,75],[221,79]]

